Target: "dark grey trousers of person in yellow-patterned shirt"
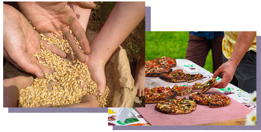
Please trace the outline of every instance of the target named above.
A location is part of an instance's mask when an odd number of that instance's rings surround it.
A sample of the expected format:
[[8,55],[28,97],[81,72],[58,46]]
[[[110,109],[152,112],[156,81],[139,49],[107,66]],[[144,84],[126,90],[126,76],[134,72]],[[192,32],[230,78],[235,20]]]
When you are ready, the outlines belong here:
[[[223,55],[223,62],[228,59]],[[250,50],[246,52],[240,61],[231,84],[239,87],[247,93],[257,90],[257,53]]]

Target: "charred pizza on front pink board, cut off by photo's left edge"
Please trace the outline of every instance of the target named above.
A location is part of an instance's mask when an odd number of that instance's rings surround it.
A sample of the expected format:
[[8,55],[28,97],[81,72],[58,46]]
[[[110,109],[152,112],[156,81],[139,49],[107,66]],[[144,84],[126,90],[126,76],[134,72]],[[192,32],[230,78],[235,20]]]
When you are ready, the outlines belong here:
[[177,96],[169,87],[145,88],[145,103],[158,103],[166,99],[173,99]]

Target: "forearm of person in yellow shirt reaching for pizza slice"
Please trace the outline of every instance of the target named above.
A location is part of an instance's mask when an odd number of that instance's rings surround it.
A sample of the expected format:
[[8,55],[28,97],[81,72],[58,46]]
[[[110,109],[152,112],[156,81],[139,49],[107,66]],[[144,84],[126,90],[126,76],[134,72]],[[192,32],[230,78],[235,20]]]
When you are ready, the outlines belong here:
[[239,64],[247,50],[252,45],[256,31],[240,31],[236,39],[235,47],[228,61],[233,61],[236,65]]

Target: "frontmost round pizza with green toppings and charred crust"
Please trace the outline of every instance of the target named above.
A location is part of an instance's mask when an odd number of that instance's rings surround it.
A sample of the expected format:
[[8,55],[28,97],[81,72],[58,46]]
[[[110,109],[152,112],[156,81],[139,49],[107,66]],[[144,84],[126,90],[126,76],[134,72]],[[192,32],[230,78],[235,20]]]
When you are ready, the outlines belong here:
[[193,100],[188,100],[186,97],[181,99],[167,99],[156,104],[155,109],[167,114],[185,114],[196,109],[197,103]]

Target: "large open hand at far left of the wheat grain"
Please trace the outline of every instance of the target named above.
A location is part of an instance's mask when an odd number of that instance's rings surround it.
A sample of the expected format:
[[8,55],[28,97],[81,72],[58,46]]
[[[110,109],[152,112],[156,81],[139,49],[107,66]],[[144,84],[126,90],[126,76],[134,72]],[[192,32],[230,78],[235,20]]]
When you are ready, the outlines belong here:
[[41,40],[28,20],[12,6],[3,6],[3,55],[16,68],[43,78],[44,73],[51,69],[40,63],[32,54],[39,54],[40,43],[53,53],[66,57],[66,54],[55,45],[48,45]]

